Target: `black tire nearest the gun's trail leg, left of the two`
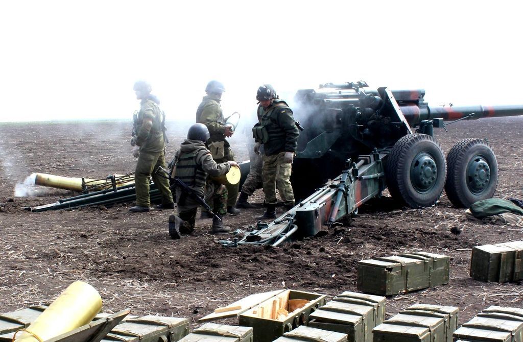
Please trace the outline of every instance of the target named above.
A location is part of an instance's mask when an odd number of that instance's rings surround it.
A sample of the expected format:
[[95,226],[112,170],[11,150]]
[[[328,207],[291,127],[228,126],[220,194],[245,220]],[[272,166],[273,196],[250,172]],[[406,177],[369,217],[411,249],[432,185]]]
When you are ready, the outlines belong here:
[[445,156],[426,134],[408,134],[392,146],[386,163],[391,196],[411,208],[436,204],[445,185]]

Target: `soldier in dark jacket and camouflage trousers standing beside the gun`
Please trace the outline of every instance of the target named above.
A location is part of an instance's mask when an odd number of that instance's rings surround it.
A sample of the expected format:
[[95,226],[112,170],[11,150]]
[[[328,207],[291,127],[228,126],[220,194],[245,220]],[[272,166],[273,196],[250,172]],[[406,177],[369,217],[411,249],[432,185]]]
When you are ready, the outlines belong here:
[[267,210],[258,219],[276,218],[276,187],[287,210],[294,207],[294,194],[290,183],[292,160],[300,132],[296,127],[292,110],[280,100],[274,88],[264,84],[256,93],[258,120],[253,127],[256,140],[254,152],[259,154],[263,144],[263,190]]

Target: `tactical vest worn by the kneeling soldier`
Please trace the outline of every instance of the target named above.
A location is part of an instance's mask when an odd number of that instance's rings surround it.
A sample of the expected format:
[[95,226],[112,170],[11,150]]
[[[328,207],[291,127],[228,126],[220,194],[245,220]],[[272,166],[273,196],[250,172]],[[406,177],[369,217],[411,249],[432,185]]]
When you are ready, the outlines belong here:
[[189,153],[176,153],[175,177],[183,181],[188,187],[196,191],[203,198],[207,173],[197,163],[197,158],[208,153],[203,147]]

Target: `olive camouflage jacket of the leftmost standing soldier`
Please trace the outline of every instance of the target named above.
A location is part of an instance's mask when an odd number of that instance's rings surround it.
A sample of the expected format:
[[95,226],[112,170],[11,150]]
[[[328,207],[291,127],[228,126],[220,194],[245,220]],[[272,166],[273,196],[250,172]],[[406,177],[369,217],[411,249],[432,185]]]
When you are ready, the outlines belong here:
[[[138,141],[140,152],[156,153],[163,151],[165,148],[162,121],[163,112],[158,107],[160,101],[155,96],[149,96],[143,99],[140,103],[140,111],[138,112]],[[153,122],[152,128],[147,131],[143,122],[145,119],[151,119]]]

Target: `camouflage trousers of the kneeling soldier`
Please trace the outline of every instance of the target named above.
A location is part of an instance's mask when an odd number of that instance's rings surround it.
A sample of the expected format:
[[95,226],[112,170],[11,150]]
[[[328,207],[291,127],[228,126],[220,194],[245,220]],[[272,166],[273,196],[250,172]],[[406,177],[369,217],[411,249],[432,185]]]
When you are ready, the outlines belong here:
[[[224,185],[208,180],[205,185],[204,199],[209,203],[209,206],[215,214],[225,215],[227,212],[227,188]],[[178,216],[180,216],[181,219],[184,219],[182,215],[186,215],[185,213],[192,211],[195,212],[196,217],[196,209],[198,209],[200,204],[194,199],[184,196],[184,193],[179,189],[176,189],[176,203],[179,213]],[[192,225],[194,225],[194,222],[192,222]]]

